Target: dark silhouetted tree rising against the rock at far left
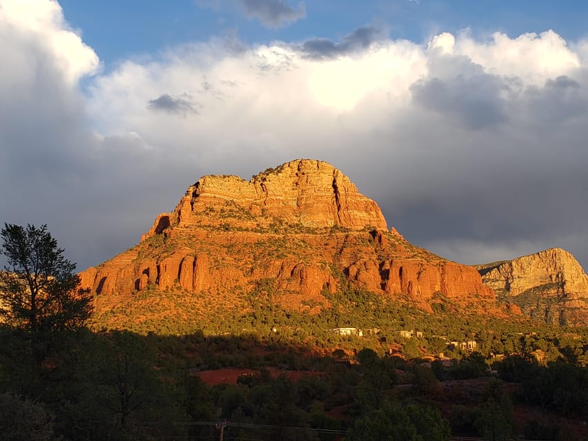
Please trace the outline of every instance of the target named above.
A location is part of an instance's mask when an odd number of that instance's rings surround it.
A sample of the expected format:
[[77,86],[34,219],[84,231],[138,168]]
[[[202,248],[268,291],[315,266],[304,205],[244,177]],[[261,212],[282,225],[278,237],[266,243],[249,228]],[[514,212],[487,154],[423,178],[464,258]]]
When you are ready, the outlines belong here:
[[0,272],[0,316],[30,333],[38,359],[50,336],[85,325],[90,291],[79,288],[75,263],[63,256],[47,225],[4,224],[0,236],[7,261]]

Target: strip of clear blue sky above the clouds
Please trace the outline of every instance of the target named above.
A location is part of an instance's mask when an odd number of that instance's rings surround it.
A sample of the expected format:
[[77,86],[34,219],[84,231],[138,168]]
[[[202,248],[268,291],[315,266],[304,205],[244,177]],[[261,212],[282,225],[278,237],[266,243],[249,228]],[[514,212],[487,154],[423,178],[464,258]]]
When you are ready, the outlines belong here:
[[247,17],[239,1],[79,1],[62,0],[65,19],[81,30],[105,68],[166,47],[234,35],[250,43],[338,40],[354,29],[374,24],[392,39],[427,41],[436,32],[469,28],[482,38],[500,31],[510,37],[555,30],[565,39],[587,34],[588,3],[549,0],[396,0],[285,1],[305,7],[305,17],[279,27]]

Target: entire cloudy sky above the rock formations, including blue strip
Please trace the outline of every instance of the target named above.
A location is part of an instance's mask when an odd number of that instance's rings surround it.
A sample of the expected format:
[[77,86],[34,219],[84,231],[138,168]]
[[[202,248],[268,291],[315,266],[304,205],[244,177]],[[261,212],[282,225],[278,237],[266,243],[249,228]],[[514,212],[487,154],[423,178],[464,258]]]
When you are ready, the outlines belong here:
[[79,269],[205,174],[332,163],[465,264],[588,268],[588,3],[0,0],[0,222]]

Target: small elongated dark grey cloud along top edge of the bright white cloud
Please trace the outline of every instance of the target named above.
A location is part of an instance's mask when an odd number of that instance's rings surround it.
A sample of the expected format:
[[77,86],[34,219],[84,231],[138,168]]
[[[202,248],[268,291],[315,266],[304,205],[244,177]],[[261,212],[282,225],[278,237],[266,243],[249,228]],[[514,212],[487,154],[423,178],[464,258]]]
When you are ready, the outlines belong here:
[[330,39],[314,38],[305,41],[301,52],[310,59],[331,59],[368,48],[374,41],[382,37],[381,29],[374,25],[357,28],[351,34],[345,35],[340,42]]

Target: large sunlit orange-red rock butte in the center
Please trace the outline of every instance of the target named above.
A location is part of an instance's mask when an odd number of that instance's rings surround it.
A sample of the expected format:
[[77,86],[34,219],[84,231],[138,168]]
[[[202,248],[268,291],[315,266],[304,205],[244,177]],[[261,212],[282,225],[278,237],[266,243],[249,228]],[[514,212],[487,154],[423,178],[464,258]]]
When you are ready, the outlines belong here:
[[[332,165],[298,160],[245,181],[203,176],[141,242],[81,273],[100,322],[157,314],[239,315],[270,293],[285,309],[318,314],[349,286],[416,302],[434,296],[496,305],[474,267],[440,258],[387,229],[378,205]],[[140,318],[137,318],[140,317]]]

